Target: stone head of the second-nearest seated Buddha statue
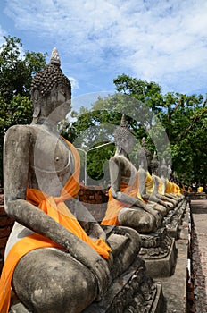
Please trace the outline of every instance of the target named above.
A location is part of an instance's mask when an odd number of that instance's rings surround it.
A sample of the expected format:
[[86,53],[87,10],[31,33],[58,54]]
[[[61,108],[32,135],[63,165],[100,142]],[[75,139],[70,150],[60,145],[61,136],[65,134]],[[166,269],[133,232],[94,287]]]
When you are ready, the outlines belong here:
[[114,140],[116,148],[119,152],[122,149],[129,153],[135,146],[135,136],[128,128],[124,114],[121,117],[120,126],[118,126],[114,131]]

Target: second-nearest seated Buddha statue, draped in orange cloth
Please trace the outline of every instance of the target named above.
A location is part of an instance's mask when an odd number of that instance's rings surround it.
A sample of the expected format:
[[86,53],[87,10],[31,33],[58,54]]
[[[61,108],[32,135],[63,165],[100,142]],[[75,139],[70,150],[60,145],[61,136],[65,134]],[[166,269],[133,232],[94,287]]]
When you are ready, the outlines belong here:
[[114,132],[115,156],[109,161],[111,188],[109,202],[101,224],[124,225],[139,233],[152,233],[161,224],[161,213],[147,206],[138,194],[137,168],[129,161],[128,153],[135,145],[124,115]]

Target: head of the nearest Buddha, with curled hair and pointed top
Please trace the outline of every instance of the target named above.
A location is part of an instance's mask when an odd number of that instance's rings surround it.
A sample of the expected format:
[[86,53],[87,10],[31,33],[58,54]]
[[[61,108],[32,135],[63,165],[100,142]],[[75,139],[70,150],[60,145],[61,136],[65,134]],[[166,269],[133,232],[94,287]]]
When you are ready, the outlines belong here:
[[50,116],[59,122],[69,113],[71,85],[70,80],[62,73],[56,48],[52,51],[49,63],[32,80],[31,98],[34,119]]

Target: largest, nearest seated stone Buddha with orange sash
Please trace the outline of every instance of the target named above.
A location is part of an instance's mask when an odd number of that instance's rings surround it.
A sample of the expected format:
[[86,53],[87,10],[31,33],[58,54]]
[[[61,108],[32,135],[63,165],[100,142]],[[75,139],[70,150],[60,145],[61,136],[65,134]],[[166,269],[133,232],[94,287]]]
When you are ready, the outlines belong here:
[[5,250],[0,311],[9,310],[12,285],[29,311],[79,313],[128,268],[140,240],[126,227],[106,236],[77,199],[79,153],[57,132],[70,111],[71,86],[56,49],[32,81],[31,97],[33,122],[12,126],[4,140],[4,207],[15,224]]

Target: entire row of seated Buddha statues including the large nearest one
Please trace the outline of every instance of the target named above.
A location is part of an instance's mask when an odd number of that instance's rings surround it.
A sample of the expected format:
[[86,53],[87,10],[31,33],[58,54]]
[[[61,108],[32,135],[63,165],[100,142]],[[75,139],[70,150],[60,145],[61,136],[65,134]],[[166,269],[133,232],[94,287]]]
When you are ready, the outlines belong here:
[[170,189],[167,166],[160,178],[149,174],[145,156],[138,170],[128,160],[135,140],[123,118],[100,225],[78,199],[79,153],[57,131],[70,111],[71,86],[56,49],[33,79],[31,97],[32,123],[12,126],[4,139],[4,207],[15,224],[5,249],[0,311],[9,311],[12,289],[20,312],[79,313],[102,300],[137,258],[139,233],[156,231],[181,196]]

